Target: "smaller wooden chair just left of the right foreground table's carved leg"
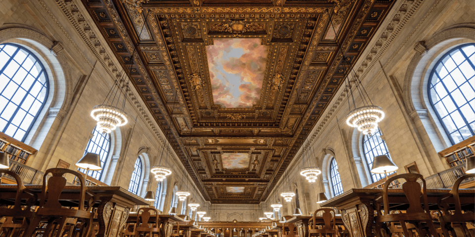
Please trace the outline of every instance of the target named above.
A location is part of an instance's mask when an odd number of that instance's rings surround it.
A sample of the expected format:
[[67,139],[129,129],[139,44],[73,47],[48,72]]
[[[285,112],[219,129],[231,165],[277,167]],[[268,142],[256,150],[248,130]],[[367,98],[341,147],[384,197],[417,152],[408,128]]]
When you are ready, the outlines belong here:
[[[322,229],[319,229],[320,225],[317,225],[317,212],[323,211],[323,221],[324,225],[322,225]],[[332,208],[320,208],[317,209],[313,213],[312,217],[312,225],[310,226],[310,229],[308,230],[308,234],[310,237],[312,236],[318,236],[318,237],[325,237],[325,236],[330,236],[330,237],[336,237],[338,236],[338,230],[336,228],[336,220],[335,220],[335,210]]]

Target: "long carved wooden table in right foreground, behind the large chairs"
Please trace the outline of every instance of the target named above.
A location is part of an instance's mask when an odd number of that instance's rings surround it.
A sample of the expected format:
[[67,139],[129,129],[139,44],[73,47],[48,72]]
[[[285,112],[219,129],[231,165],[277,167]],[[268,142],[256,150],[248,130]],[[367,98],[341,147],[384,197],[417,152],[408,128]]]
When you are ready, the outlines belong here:
[[[427,189],[429,209],[438,209],[437,199],[448,194],[449,191],[450,189]],[[373,236],[374,199],[381,192],[382,189],[351,189],[320,204],[320,206],[336,207],[341,210],[343,224],[352,237],[369,237]],[[463,209],[474,209],[475,190],[460,189],[459,196]],[[408,208],[409,202],[402,189],[389,189],[388,200],[391,210],[407,210]],[[447,198],[444,201],[452,203],[453,198]]]

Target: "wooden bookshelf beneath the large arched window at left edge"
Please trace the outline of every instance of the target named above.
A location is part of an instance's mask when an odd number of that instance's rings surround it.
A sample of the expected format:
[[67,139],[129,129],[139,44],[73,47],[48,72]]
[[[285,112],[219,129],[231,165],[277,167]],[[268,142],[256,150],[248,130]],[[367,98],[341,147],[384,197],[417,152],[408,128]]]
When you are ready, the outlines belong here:
[[22,164],[26,163],[28,158],[37,152],[33,147],[30,147],[3,132],[0,132],[0,151],[8,154],[10,159],[16,160]]

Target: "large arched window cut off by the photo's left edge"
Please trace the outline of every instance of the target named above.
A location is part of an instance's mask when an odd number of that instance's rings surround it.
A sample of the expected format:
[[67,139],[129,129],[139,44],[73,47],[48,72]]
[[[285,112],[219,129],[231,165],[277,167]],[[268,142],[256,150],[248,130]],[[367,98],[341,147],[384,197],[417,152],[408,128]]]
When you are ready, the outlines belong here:
[[48,94],[45,68],[29,50],[0,44],[0,131],[25,141]]

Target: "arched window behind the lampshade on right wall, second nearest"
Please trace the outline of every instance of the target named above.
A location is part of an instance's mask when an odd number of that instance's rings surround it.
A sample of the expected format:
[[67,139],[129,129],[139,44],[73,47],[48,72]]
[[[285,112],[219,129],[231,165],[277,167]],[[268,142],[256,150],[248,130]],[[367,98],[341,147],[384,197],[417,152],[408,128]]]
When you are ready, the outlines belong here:
[[[369,170],[371,170],[371,166],[373,165],[375,157],[386,155],[387,157],[391,158],[391,156],[389,156],[386,143],[381,139],[381,135],[381,130],[378,128],[378,130],[371,136],[364,135],[363,137],[363,152],[365,154],[366,163],[368,164]],[[384,174],[371,174],[371,179],[373,182],[376,182],[382,178],[384,178]]]

